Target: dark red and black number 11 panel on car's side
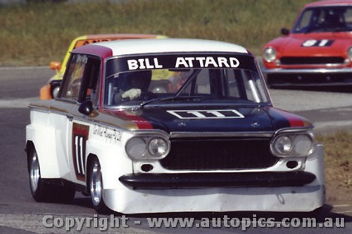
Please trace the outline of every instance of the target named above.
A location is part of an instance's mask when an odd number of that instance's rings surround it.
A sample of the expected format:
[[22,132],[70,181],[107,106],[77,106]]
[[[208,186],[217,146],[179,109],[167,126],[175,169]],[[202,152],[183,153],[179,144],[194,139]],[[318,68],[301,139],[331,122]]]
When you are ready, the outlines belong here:
[[85,154],[89,135],[89,126],[73,123],[72,155],[73,167],[78,180],[85,181]]

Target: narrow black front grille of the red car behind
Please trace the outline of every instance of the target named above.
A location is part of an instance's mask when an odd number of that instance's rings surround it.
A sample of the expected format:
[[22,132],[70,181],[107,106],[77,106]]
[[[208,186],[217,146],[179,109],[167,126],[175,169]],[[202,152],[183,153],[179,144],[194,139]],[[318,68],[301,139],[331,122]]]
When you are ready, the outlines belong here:
[[343,64],[343,57],[282,57],[282,65]]

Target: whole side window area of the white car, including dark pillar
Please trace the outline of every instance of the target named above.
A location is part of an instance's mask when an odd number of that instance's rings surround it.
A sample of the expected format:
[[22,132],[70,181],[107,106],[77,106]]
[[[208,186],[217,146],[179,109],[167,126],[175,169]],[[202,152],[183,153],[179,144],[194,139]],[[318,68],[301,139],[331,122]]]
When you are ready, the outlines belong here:
[[90,99],[97,103],[96,86],[100,74],[99,58],[75,54],[68,64],[61,98],[82,103]]

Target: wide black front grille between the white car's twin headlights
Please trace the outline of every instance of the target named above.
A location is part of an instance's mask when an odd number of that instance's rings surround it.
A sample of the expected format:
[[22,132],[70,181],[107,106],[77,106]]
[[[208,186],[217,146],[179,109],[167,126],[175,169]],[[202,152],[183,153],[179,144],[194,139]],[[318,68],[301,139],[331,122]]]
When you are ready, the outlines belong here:
[[170,170],[263,169],[277,162],[270,138],[182,138],[171,141],[161,160]]

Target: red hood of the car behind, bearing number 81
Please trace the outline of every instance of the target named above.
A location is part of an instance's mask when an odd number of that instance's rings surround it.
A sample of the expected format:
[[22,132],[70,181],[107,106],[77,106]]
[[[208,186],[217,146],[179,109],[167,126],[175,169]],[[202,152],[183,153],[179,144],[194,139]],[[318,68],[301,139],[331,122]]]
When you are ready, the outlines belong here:
[[290,34],[270,41],[265,48],[272,46],[282,56],[341,56],[352,45],[349,32],[324,32]]

